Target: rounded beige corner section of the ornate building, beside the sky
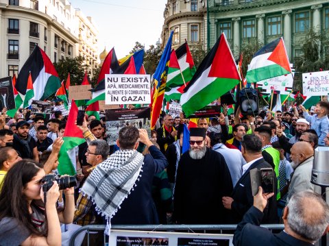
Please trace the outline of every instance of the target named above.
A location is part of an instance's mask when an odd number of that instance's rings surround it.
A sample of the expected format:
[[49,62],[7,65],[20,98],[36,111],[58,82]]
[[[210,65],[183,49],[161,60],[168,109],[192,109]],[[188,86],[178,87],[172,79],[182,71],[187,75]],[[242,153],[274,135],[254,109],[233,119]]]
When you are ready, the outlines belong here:
[[168,0],[164,9],[162,46],[167,44],[171,31],[173,31],[173,49],[180,47],[185,40],[191,49],[195,45],[204,45],[205,10],[203,0]]

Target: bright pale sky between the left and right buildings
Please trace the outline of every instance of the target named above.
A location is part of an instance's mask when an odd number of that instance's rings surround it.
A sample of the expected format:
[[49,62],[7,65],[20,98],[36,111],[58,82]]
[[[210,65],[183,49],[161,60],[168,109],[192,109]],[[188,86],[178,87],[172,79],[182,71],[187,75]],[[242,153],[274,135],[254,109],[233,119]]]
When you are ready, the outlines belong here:
[[117,57],[123,58],[141,42],[145,49],[156,45],[164,23],[167,0],[69,0],[91,16],[98,27],[98,51],[114,47]]

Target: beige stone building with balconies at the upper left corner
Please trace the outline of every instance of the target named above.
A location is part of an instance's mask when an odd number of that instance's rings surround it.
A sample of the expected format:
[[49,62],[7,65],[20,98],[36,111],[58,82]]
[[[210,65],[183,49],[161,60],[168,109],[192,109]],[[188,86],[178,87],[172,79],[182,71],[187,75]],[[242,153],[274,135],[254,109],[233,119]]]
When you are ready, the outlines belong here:
[[0,0],[0,21],[0,77],[17,76],[36,45],[52,62],[80,55],[80,17],[67,0]]

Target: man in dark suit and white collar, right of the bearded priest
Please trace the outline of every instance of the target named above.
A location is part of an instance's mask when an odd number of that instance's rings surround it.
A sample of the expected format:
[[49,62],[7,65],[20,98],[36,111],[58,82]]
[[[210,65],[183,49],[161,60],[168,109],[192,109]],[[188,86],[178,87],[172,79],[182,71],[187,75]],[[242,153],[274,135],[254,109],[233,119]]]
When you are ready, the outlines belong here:
[[[271,165],[265,162],[262,156],[262,142],[255,134],[247,134],[243,136],[241,143],[241,153],[247,164],[242,167],[242,176],[234,186],[232,195],[230,197],[223,197],[223,205],[230,210],[231,214],[228,217],[228,223],[239,223],[243,219],[245,212],[253,204],[252,184],[250,181],[251,169],[271,168]],[[276,190],[277,180],[274,177],[274,193],[275,196],[269,199],[269,203],[264,210],[264,217],[262,223],[278,223],[278,213],[276,206]]]

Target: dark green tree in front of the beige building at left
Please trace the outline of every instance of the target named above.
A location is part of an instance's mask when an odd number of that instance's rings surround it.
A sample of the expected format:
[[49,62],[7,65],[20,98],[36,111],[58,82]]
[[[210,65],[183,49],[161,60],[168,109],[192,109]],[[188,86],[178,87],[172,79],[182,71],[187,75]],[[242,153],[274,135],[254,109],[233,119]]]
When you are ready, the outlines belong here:
[[66,79],[70,73],[71,85],[80,85],[84,79],[84,72],[87,65],[84,64],[84,58],[77,56],[75,58],[65,58],[53,64],[60,79]]

